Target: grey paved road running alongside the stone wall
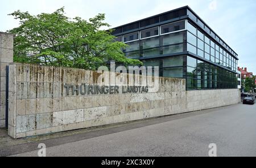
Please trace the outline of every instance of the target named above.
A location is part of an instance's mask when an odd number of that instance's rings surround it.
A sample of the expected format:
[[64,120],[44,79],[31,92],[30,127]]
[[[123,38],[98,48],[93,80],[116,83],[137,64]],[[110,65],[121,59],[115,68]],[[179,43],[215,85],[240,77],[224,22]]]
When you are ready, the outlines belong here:
[[[151,124],[148,124],[150,123]],[[144,124],[144,125],[143,125]],[[234,105],[147,120],[136,128],[54,145],[47,156],[256,156],[256,105]],[[74,137],[75,138],[75,137]],[[15,156],[37,156],[38,151]]]

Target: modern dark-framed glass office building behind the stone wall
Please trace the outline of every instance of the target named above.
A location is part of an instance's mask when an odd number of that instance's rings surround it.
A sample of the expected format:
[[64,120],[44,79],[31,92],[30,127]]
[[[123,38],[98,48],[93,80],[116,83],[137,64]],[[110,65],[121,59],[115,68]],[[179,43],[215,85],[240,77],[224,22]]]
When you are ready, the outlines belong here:
[[237,53],[188,6],[113,29],[126,57],[185,78],[187,90],[237,88]]

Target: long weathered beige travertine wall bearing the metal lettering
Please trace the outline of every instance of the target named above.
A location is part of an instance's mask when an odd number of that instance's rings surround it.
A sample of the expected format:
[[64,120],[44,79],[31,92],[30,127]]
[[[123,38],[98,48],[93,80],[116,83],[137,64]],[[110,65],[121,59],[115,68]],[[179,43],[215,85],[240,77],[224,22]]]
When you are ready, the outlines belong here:
[[160,78],[157,93],[66,96],[65,84],[94,85],[91,71],[9,66],[9,135],[14,138],[209,109],[239,102],[238,89],[185,91],[184,79]]

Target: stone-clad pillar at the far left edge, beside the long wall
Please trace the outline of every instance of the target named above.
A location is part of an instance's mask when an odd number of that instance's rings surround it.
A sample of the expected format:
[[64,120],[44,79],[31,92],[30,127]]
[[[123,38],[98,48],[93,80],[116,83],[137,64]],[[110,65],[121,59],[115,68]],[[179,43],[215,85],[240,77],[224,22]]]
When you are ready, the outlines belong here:
[[13,38],[0,32],[0,128],[6,127],[6,67],[13,63]]

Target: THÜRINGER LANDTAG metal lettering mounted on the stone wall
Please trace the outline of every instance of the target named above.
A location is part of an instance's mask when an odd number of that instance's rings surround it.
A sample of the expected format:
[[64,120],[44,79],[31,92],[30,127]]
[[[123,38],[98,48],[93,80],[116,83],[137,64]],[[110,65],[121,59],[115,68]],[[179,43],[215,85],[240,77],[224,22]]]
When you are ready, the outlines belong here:
[[[99,85],[64,85],[67,96],[72,92],[72,96],[75,94],[81,95],[95,95],[95,94],[119,94],[119,86],[99,86]],[[148,87],[136,87],[136,86],[122,86],[122,93],[148,93]]]

